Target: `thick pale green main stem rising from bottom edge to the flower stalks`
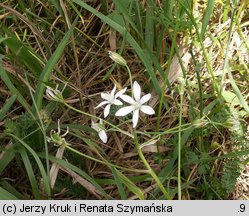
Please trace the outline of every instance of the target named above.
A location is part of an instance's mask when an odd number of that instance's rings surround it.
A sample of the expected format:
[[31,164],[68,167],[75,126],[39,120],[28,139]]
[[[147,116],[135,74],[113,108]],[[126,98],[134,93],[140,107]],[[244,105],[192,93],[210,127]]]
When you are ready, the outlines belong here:
[[166,189],[164,188],[162,182],[159,180],[158,176],[153,171],[153,169],[150,167],[149,163],[147,162],[146,158],[144,157],[144,154],[143,154],[143,152],[140,149],[139,144],[138,144],[136,131],[134,131],[134,142],[135,142],[135,146],[137,148],[138,155],[139,155],[140,159],[143,161],[143,163],[144,163],[145,167],[148,169],[150,175],[153,177],[153,179],[156,181],[158,187],[163,192],[165,199],[171,200],[171,197],[170,197],[169,193],[166,191]]

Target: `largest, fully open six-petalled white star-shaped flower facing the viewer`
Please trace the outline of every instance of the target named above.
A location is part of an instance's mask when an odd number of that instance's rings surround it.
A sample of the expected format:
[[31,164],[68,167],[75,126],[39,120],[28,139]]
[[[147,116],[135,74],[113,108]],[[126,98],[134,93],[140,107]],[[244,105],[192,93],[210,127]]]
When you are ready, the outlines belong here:
[[140,110],[148,115],[155,114],[155,111],[152,107],[150,107],[148,105],[143,105],[144,103],[146,103],[150,100],[151,94],[146,94],[142,98],[140,98],[141,97],[141,87],[136,81],[133,83],[132,92],[134,95],[134,99],[128,95],[121,95],[120,96],[120,98],[122,100],[124,100],[125,102],[127,102],[131,105],[119,109],[115,115],[116,116],[125,116],[128,113],[133,112],[132,122],[133,122],[133,128],[135,128],[137,125],[138,119],[139,119],[139,111]]

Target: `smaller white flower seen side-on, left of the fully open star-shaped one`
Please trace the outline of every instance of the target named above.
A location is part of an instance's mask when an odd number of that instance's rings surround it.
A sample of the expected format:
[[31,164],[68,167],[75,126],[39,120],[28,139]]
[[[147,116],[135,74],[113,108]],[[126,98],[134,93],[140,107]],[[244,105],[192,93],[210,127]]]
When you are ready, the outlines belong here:
[[126,88],[118,91],[115,94],[116,88],[117,88],[117,86],[115,85],[114,88],[112,89],[111,93],[101,93],[101,98],[104,99],[104,101],[102,101],[98,106],[95,107],[95,108],[99,108],[103,105],[106,105],[106,107],[104,109],[104,118],[106,118],[109,115],[110,108],[111,108],[112,104],[117,105],[117,106],[123,105],[123,103],[120,100],[118,100],[117,98],[125,93]]

